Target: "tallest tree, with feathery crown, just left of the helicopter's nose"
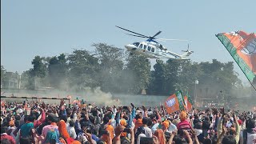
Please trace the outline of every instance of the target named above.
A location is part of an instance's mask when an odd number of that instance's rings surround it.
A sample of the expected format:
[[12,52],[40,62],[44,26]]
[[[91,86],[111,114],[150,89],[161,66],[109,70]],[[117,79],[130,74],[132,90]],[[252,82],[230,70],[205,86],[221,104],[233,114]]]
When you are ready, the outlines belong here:
[[122,49],[106,43],[93,44],[99,61],[98,82],[106,92],[121,92],[124,53]]

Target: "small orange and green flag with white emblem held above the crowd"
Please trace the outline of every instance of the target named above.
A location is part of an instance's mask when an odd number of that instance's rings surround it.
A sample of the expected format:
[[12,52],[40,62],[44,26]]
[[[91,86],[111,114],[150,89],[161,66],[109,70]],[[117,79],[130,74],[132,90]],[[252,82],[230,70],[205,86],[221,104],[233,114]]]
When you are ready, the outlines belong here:
[[182,92],[178,91],[176,94],[173,94],[167,98],[165,106],[168,114],[174,113],[178,110],[184,110],[185,107]]

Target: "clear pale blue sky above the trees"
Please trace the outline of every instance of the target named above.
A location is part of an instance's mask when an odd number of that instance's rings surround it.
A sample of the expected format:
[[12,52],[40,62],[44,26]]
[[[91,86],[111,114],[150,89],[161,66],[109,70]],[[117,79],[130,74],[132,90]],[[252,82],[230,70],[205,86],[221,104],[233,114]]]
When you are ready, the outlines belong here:
[[[125,49],[146,40],[115,26],[150,36],[161,30],[158,38],[190,40],[193,62],[234,62],[215,34],[256,32],[255,6],[255,0],[1,0],[1,65],[21,74],[32,68],[36,55],[92,51],[98,42]],[[187,42],[161,43],[178,54],[187,49]],[[234,69],[247,82],[235,62]]]

